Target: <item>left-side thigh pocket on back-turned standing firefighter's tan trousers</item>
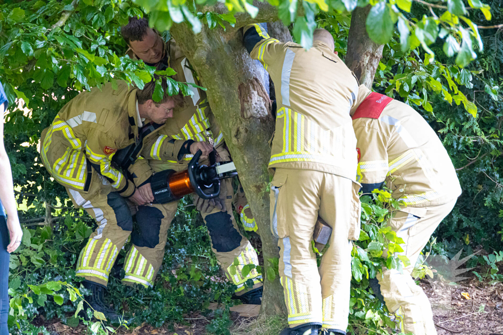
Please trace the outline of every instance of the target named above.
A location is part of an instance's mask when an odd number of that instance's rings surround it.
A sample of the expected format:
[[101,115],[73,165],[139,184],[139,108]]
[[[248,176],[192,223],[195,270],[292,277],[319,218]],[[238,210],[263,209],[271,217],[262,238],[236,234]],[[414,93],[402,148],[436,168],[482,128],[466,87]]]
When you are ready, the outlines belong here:
[[280,239],[288,236],[288,229],[285,224],[285,201],[283,199],[287,177],[288,175],[284,173],[275,173],[271,181],[271,233]]

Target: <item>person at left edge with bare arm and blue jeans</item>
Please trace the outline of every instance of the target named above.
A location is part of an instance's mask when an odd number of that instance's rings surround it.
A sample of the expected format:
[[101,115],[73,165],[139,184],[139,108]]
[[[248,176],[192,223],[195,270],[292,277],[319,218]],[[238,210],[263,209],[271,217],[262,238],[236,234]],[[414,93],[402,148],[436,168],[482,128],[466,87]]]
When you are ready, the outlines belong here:
[[[0,82],[0,335],[8,335],[9,316],[9,254],[18,249],[23,237],[19,225],[11,163],[4,146],[4,112],[9,102]],[[5,208],[5,209],[4,209]],[[7,215],[6,215],[7,210]]]

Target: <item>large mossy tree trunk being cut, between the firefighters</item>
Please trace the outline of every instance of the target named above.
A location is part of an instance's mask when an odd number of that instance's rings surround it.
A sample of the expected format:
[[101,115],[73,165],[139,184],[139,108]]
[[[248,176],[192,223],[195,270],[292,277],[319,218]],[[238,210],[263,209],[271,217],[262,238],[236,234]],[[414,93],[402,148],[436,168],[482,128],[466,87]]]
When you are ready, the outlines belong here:
[[[265,4],[267,5],[267,4]],[[267,5],[269,6],[269,5]],[[272,13],[272,14],[271,14]],[[277,12],[261,9],[255,22],[271,21]],[[219,121],[227,147],[239,173],[251,211],[262,239],[265,271],[271,267],[268,259],[278,258],[277,239],[269,224],[269,174],[267,165],[271,156],[268,141],[275,121],[271,115],[271,102],[257,72],[257,64],[249,57],[242,44],[244,24],[249,17],[236,23],[234,29],[210,30],[204,27],[194,35],[185,23],[174,25],[171,34],[185,52],[187,59],[207,88],[211,110]],[[243,22],[246,21],[246,22]],[[266,277],[266,276],[265,276]],[[279,278],[264,279],[263,314],[285,313],[283,288]]]

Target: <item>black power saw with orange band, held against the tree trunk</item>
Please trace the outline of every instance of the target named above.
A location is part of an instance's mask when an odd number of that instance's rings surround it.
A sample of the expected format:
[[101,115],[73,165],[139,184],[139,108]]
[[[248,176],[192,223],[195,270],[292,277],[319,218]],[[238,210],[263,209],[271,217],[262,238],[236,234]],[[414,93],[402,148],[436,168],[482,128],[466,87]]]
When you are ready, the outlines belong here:
[[201,150],[192,157],[187,170],[164,170],[154,173],[150,181],[155,202],[177,201],[187,194],[196,193],[203,199],[216,198],[220,194],[220,180],[237,175],[234,163],[218,162],[210,158],[210,166],[199,164]]

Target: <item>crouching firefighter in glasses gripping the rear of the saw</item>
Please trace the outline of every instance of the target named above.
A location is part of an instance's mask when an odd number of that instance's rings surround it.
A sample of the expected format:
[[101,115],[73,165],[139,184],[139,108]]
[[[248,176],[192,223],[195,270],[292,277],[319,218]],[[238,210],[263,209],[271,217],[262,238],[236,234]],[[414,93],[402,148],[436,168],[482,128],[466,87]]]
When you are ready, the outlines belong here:
[[[115,89],[107,83],[101,90],[84,91],[64,105],[41,136],[46,169],[66,188],[75,207],[97,221],[98,228],[80,252],[76,275],[85,278],[84,286],[92,291],[92,308],[109,320],[117,314],[104,294],[119,251],[131,235],[123,283],[152,286],[177,209],[176,202],[149,204],[152,170],[147,160],[137,159],[122,170],[114,158],[119,150],[157,136],[173,117],[176,99],[165,94],[154,102],[154,86],[152,81],[139,90],[117,81]],[[162,86],[166,88],[164,80]],[[134,205],[138,230],[132,232]]]

